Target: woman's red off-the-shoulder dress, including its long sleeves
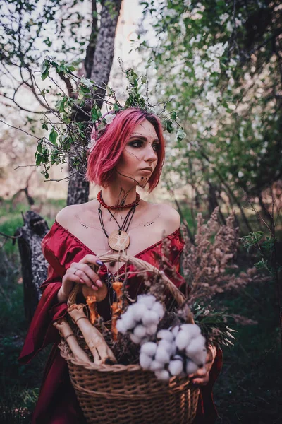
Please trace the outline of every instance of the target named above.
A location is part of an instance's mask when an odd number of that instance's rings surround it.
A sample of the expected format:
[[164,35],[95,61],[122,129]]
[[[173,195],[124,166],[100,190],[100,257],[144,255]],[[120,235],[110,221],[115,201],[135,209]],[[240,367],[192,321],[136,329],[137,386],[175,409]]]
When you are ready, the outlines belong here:
[[[169,262],[176,270],[173,277],[169,275],[168,277],[176,286],[180,287],[183,283],[183,278],[179,274],[180,254],[184,245],[180,230],[178,229],[173,234],[168,235],[167,239],[171,242]],[[162,242],[163,240],[160,240],[147,247],[135,257],[158,266]],[[42,387],[32,416],[32,424],[84,424],[85,420],[68,376],[66,361],[61,358],[57,347],[60,341],[59,332],[54,328],[52,322],[66,314],[66,303],[58,303],[57,300],[57,293],[66,269],[71,266],[72,262],[80,261],[85,257],[85,254],[94,254],[94,252],[57,222],[54,223],[42,240],[42,250],[44,257],[49,262],[48,276],[41,286],[42,298],[27,332],[23,351],[19,358],[20,363],[28,363],[49,343],[54,343],[54,346],[44,370]],[[128,267],[128,271],[130,271],[130,267]],[[105,275],[106,266],[102,266],[99,276],[103,278]],[[139,287],[140,279],[131,276],[128,278],[128,282],[130,291],[134,291]],[[98,312],[104,319],[109,318],[109,299],[106,298],[99,303]],[[218,350],[210,372],[209,384],[201,389],[195,424],[214,423],[216,420],[212,386],[221,370],[221,362],[221,351]]]

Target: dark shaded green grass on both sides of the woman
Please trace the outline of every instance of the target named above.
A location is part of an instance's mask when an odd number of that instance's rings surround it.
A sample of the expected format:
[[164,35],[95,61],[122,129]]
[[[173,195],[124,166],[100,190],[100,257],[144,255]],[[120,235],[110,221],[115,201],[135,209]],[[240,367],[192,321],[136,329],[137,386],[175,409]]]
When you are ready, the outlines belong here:
[[[22,225],[20,211],[25,205],[11,209],[8,202],[0,205],[0,231],[13,235]],[[44,205],[49,225],[64,201]],[[42,213],[42,212],[41,212]],[[6,218],[7,216],[7,218]],[[188,216],[192,225],[192,217]],[[247,257],[238,262],[247,267]],[[23,309],[23,285],[17,246],[6,242],[0,250],[0,423],[30,422],[42,379],[48,350],[40,353],[30,365],[20,365],[18,355],[27,331]],[[278,424],[282,416],[279,377],[281,348],[278,331],[278,308],[273,283],[253,283],[240,292],[218,295],[215,306],[228,307],[257,322],[254,325],[233,324],[238,331],[233,347],[223,349],[223,370],[214,387],[219,411],[216,424]]]

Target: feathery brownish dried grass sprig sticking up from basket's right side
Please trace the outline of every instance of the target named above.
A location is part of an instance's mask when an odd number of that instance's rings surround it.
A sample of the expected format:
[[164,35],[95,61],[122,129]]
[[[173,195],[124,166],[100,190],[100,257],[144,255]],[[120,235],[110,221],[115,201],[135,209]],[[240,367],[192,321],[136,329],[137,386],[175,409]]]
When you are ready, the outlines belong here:
[[238,250],[238,228],[235,216],[226,218],[226,225],[220,225],[216,208],[204,223],[202,213],[197,215],[195,244],[183,227],[185,248],[183,250],[183,275],[190,290],[190,304],[196,300],[207,302],[217,293],[245,287],[251,281],[262,281],[255,267],[235,273],[234,264]]

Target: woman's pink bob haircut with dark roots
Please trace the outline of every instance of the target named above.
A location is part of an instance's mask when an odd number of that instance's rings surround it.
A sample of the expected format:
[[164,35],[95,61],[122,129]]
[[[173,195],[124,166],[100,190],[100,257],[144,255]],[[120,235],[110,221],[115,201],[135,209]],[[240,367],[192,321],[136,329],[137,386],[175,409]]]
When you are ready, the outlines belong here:
[[121,153],[128,143],[130,134],[137,124],[142,121],[149,121],[157,133],[159,139],[159,149],[157,150],[157,165],[149,178],[149,192],[157,187],[161,170],[164,165],[164,135],[159,118],[145,110],[128,108],[116,114],[113,122],[106,125],[105,129],[97,135],[93,128],[91,139],[94,146],[88,151],[88,163],[86,179],[99,186],[106,187],[111,178],[114,177],[114,168],[118,164]]

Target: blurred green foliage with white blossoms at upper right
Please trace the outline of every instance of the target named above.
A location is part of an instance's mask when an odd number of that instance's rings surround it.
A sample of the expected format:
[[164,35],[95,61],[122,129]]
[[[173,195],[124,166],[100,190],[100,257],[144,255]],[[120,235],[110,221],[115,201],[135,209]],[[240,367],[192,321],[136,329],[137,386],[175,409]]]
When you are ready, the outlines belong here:
[[240,187],[257,196],[282,170],[276,4],[161,0],[142,5],[157,37],[144,35],[139,45],[149,51],[148,66],[157,68],[155,95],[173,96],[168,110],[185,122],[185,136],[171,139],[168,148],[168,174],[179,175],[174,184],[188,181],[207,192],[210,183],[224,190],[224,181],[232,190]]

